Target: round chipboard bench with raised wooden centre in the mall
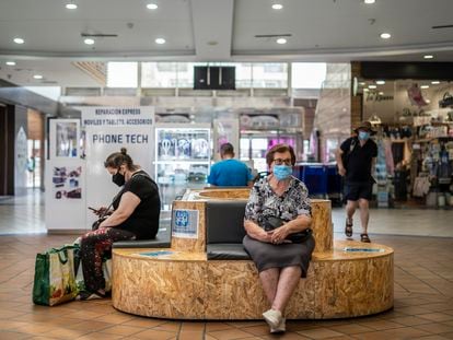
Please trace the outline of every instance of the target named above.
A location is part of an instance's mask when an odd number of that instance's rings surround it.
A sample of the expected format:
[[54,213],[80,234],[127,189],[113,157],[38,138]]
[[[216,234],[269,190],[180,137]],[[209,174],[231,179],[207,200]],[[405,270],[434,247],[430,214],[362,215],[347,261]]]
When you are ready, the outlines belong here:
[[[196,238],[172,235],[169,249],[113,249],[114,307],[159,318],[262,319],[269,306],[254,263],[208,260],[206,253],[206,203],[247,197],[244,189],[188,191],[173,209],[198,212]],[[393,249],[333,242],[329,201],[313,200],[312,207],[316,247],[307,278],[300,281],[287,317],[356,317],[392,308]]]

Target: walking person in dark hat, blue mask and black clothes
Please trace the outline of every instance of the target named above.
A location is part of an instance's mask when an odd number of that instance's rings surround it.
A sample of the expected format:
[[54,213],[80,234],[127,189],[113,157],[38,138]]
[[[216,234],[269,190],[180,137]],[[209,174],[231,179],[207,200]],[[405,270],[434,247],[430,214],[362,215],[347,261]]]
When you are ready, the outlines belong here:
[[375,131],[372,130],[369,121],[362,121],[355,132],[357,136],[345,140],[336,152],[338,172],[345,177],[345,199],[347,200],[345,234],[347,237],[352,236],[352,216],[359,208],[362,226],[360,241],[370,243],[368,236],[369,201],[374,184],[372,173],[378,156],[378,145],[370,139]]

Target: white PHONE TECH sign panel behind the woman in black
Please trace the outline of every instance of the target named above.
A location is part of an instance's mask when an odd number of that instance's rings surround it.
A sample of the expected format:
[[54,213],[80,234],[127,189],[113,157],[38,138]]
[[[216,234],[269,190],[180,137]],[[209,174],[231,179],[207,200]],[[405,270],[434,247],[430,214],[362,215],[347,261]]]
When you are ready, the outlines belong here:
[[[154,177],[153,107],[81,107],[85,133],[86,207],[108,207],[120,190],[104,167],[107,156],[126,148],[133,163]],[[90,225],[96,216],[85,209]]]

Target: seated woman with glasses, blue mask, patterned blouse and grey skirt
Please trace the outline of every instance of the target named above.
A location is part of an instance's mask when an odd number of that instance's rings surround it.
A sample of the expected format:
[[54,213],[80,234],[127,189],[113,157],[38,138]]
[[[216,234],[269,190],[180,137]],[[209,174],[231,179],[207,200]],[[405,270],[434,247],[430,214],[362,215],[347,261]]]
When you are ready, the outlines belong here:
[[[263,317],[270,332],[283,332],[284,308],[301,277],[306,277],[315,243],[309,233],[312,221],[309,191],[291,175],[295,163],[293,149],[277,144],[268,151],[266,162],[270,175],[257,181],[251,191],[243,245],[258,269],[269,301],[270,309]],[[276,220],[281,226],[275,225]],[[306,237],[292,241],[291,235],[297,233]]]

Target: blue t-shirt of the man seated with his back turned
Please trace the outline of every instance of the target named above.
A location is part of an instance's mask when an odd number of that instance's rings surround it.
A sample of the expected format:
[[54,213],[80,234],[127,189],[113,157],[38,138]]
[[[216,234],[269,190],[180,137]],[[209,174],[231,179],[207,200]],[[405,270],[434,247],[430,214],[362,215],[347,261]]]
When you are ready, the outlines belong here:
[[208,183],[218,187],[244,187],[253,179],[249,168],[236,160],[224,160],[211,167]]

